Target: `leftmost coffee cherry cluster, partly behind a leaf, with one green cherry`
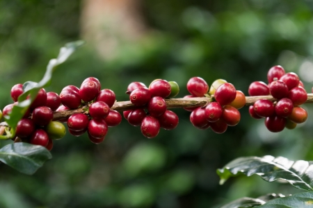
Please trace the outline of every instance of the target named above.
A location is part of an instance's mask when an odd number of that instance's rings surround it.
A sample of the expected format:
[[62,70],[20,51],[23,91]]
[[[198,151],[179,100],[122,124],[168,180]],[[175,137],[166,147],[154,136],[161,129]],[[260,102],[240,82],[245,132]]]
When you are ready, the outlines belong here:
[[[15,103],[3,108],[3,116],[12,111],[17,105],[17,99],[24,92],[23,85],[14,85],[10,91],[11,98]],[[53,147],[54,139],[61,139],[65,135],[65,126],[52,121],[53,112],[61,104],[61,99],[55,92],[47,92],[40,89],[23,118],[17,123],[15,142],[28,142],[30,144],[45,146],[48,150]]]

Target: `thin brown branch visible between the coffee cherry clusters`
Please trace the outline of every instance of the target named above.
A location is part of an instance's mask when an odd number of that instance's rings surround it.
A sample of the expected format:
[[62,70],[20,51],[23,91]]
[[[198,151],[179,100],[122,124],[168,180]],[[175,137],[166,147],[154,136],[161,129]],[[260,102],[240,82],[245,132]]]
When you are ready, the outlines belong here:
[[[269,101],[275,102],[277,99],[273,98],[273,96],[246,96],[246,106],[253,105],[256,101],[260,99],[267,99]],[[202,98],[172,98],[166,99],[166,105],[168,108],[182,108],[182,107],[198,107],[207,105],[211,98],[202,97]],[[305,103],[313,103],[313,94],[307,94],[307,101]],[[115,102],[114,105],[111,107],[111,110],[117,111],[125,111],[125,110],[132,110],[136,108],[141,108],[146,106],[136,106],[133,105],[130,101],[120,101]],[[83,108],[86,106],[79,107],[74,110],[65,110],[62,112],[54,112],[54,121],[58,119],[65,119],[71,116],[74,113],[83,112]]]

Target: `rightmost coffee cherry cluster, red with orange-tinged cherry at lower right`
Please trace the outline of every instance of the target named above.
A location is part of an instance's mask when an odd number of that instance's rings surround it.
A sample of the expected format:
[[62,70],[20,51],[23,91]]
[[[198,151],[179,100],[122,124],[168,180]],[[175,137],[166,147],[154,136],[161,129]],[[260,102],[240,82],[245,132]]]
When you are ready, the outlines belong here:
[[303,83],[296,73],[285,73],[281,66],[274,66],[267,73],[268,85],[261,81],[249,86],[250,96],[266,96],[271,94],[277,101],[267,99],[256,101],[249,107],[254,119],[265,118],[266,128],[271,132],[280,132],[284,128],[294,129],[297,123],[307,120],[307,111],[299,105],[307,101]]

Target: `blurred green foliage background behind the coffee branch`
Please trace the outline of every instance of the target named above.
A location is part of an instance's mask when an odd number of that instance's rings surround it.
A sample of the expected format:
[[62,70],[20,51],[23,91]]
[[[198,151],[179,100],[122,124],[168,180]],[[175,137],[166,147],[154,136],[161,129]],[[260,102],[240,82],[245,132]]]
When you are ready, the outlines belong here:
[[[47,92],[95,76],[127,101],[127,85],[156,78],[186,83],[223,78],[248,94],[275,64],[313,83],[313,3],[307,1],[0,1],[0,107],[10,88],[39,81],[66,42],[85,46],[58,67]],[[114,16],[115,15],[115,16]],[[243,196],[297,193],[289,184],[236,177],[218,184],[216,169],[241,156],[313,160],[312,106],[295,130],[271,133],[241,110],[223,135],[198,130],[189,113],[146,139],[123,120],[102,144],[86,135],[54,142],[53,159],[32,176],[0,164],[0,207],[219,207]],[[1,141],[1,146],[10,141]]]

